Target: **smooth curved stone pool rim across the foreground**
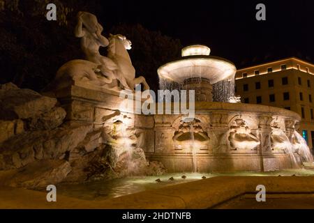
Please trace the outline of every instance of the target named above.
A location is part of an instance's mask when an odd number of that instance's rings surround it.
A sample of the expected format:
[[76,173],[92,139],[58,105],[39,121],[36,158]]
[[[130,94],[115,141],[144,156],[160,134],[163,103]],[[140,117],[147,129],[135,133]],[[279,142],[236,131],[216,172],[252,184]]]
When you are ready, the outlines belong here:
[[[265,185],[269,194],[307,193],[308,197],[269,197],[255,203],[254,196],[243,195],[256,193],[257,185]],[[57,202],[47,202],[45,192],[0,187],[0,208],[313,208],[313,194],[314,176],[218,176],[105,201],[57,195]]]

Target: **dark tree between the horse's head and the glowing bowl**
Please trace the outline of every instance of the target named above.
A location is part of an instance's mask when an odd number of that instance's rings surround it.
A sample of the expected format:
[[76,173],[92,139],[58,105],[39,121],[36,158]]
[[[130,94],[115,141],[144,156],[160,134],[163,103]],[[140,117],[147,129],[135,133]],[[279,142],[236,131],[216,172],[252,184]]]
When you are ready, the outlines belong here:
[[158,89],[157,69],[164,63],[179,59],[181,42],[164,36],[159,31],[149,31],[140,24],[119,24],[110,33],[121,33],[131,40],[129,54],[137,76],[144,76],[151,89]]

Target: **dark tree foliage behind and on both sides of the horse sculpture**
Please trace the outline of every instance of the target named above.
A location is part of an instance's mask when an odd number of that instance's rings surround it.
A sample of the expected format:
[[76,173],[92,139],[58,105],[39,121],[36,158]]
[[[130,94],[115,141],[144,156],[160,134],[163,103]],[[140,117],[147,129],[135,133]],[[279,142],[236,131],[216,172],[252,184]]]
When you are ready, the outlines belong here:
[[[57,22],[52,22],[45,19],[49,3],[46,0],[0,0],[0,83],[14,82],[22,88],[40,91],[63,63],[82,59],[80,40],[73,34],[76,14],[84,10],[101,15],[99,1],[56,0]],[[129,53],[137,75],[146,77],[156,89],[156,70],[179,56],[180,41],[140,24],[115,25],[110,32],[124,34],[132,41]],[[105,30],[104,34],[108,33]]]

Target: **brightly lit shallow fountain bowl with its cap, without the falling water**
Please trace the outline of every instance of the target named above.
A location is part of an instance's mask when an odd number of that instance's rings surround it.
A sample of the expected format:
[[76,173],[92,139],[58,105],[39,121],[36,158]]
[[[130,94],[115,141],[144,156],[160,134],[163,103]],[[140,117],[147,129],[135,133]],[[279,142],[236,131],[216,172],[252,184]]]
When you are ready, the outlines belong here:
[[223,79],[233,79],[237,68],[233,63],[217,56],[209,56],[204,45],[192,45],[182,49],[183,59],[172,61],[158,68],[158,75],[172,82],[184,82],[199,77],[215,84]]

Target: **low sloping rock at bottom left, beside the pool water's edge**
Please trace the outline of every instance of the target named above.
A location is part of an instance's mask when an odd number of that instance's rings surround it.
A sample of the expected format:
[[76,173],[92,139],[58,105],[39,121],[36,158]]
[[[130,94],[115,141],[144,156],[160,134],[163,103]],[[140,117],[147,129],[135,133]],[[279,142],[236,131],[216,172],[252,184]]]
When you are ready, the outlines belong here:
[[71,169],[66,160],[37,160],[20,169],[0,171],[0,182],[10,187],[40,189],[60,183]]

